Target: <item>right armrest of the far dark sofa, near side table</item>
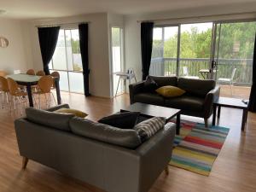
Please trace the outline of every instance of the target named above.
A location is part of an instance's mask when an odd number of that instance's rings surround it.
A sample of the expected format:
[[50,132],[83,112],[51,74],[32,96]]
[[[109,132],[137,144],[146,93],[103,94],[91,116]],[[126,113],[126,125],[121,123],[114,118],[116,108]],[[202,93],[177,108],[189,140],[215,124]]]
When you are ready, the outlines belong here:
[[218,85],[215,86],[213,90],[210,90],[207,93],[205,103],[204,103],[204,117],[209,118],[212,115],[213,110],[213,102],[216,102],[219,97],[220,87]]

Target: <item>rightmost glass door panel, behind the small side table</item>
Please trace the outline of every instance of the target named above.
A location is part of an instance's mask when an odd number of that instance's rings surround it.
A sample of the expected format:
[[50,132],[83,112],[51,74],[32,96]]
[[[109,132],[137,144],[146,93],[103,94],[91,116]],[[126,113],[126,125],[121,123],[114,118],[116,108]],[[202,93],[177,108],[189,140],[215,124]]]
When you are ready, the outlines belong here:
[[221,96],[247,99],[253,71],[256,22],[216,23],[216,73]]

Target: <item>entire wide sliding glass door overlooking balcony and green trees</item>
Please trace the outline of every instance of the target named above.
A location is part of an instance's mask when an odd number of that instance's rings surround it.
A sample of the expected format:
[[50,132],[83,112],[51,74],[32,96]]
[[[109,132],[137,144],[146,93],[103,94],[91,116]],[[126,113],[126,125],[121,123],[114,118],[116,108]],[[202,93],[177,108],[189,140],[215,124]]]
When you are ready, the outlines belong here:
[[155,26],[150,75],[216,79],[221,96],[248,98],[255,21]]

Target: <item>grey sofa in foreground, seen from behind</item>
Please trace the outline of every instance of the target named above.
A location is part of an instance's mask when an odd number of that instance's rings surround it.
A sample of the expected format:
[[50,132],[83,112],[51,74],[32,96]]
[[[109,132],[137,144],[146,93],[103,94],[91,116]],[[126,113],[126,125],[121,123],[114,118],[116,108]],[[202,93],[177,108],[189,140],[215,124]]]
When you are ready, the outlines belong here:
[[[60,105],[49,111],[58,108],[69,107]],[[172,123],[141,143],[133,130],[47,115],[52,114],[40,115],[30,109],[26,118],[15,120],[23,168],[28,160],[34,160],[108,192],[146,192],[171,160]],[[60,118],[62,127],[55,122]]]

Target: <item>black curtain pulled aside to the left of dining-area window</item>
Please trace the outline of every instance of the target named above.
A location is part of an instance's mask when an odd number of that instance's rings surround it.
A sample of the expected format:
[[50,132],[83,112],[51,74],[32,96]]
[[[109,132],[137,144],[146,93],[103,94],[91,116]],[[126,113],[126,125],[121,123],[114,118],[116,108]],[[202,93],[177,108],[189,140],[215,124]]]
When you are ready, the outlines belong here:
[[49,75],[49,61],[55,53],[60,26],[38,27],[38,37],[44,65],[44,73]]

